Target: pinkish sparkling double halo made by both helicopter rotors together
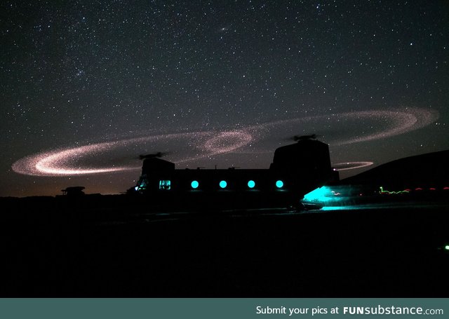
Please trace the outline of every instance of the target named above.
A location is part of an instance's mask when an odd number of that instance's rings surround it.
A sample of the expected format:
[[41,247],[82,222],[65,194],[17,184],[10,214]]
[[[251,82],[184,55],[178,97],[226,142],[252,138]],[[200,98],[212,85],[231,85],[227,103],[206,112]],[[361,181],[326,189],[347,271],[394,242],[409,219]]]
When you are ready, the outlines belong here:
[[[116,158],[118,153],[126,154],[129,157],[129,154],[137,154],[142,149],[164,151],[170,153],[170,156],[167,157],[169,161],[183,163],[234,151],[241,151],[242,153],[257,153],[266,149],[273,151],[280,146],[279,140],[282,137],[292,133],[294,135],[298,133],[308,135],[314,133],[311,130],[317,127],[324,128],[324,133],[320,134],[319,132],[319,135],[325,137],[324,142],[329,142],[331,146],[340,146],[408,133],[429,125],[436,118],[438,118],[438,113],[427,109],[356,111],[307,116],[251,125],[240,130],[152,135],[58,149],[22,158],[15,162],[12,168],[20,174],[38,176],[121,172],[136,170],[140,168],[141,163],[129,160],[121,164],[119,158]],[[372,123],[373,121],[380,121],[383,127],[375,125],[375,123]],[[351,128],[350,136],[339,135],[340,131],[344,132],[345,127],[350,125],[358,125],[359,127],[361,125],[363,129],[355,130]],[[101,167],[101,165],[98,165],[98,158],[109,158],[110,163],[102,161],[102,165],[105,165],[105,167]],[[93,163],[89,163],[89,160]],[[337,169],[349,170],[365,167],[368,163],[370,163],[369,165],[372,164],[371,162],[351,163],[358,164]]]

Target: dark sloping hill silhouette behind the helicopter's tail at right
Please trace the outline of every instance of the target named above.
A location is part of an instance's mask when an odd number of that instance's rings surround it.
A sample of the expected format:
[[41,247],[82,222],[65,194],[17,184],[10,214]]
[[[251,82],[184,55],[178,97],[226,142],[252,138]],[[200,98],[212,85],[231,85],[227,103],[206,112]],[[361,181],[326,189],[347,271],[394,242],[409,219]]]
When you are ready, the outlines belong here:
[[340,184],[449,186],[449,150],[391,161],[342,179]]

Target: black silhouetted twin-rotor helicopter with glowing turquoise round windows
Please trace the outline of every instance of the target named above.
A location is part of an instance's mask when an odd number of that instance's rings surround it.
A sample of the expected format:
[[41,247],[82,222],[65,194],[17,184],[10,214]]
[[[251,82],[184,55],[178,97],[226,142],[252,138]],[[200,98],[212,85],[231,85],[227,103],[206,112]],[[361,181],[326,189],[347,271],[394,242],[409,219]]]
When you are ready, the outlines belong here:
[[155,205],[180,208],[304,209],[303,196],[338,180],[330,165],[328,144],[316,135],[295,136],[294,144],[279,147],[268,169],[176,169],[163,153],[143,160],[138,183],[128,191]]

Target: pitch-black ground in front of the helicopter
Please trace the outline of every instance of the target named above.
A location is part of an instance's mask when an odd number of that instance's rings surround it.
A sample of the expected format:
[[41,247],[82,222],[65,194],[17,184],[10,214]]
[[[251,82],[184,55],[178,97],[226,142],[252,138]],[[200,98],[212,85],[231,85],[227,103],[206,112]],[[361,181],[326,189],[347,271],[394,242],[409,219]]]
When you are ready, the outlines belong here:
[[86,198],[0,199],[0,297],[449,297],[448,201],[186,213]]

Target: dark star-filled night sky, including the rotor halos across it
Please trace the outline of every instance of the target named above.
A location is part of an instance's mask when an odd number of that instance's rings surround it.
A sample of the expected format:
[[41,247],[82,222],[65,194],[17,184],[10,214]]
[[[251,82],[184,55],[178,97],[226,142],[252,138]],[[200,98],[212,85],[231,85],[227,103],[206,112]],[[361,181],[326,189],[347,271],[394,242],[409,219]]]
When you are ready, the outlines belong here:
[[[341,177],[449,149],[449,2],[1,1],[0,196],[119,194],[139,154]],[[342,164],[349,163],[349,164]]]

